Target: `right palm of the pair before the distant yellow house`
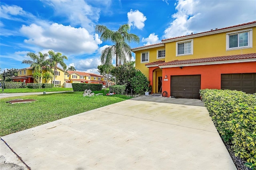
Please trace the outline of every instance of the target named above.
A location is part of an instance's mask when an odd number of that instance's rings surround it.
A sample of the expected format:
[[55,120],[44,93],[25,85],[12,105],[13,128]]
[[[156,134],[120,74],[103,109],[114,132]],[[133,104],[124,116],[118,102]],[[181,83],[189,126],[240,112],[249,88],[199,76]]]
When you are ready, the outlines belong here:
[[52,50],[48,51],[49,55],[50,55],[50,66],[54,67],[54,76],[53,76],[53,81],[54,81],[54,87],[55,87],[55,73],[57,71],[57,65],[60,64],[61,67],[66,70],[67,65],[64,63],[64,59],[68,59],[68,57],[66,57],[65,55],[62,55],[62,53],[60,52],[54,52]]

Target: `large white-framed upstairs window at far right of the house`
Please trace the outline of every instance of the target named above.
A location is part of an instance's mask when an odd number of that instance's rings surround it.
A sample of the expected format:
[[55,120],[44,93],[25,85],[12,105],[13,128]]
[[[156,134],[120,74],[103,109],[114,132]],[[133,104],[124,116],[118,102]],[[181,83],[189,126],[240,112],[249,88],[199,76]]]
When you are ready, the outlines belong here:
[[226,50],[252,47],[252,29],[226,34]]

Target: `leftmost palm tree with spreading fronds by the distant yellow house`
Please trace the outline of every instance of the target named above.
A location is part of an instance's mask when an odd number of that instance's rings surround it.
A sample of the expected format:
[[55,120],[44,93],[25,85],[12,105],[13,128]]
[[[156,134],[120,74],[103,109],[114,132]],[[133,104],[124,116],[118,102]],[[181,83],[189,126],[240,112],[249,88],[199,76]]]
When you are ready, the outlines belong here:
[[25,59],[22,61],[22,64],[29,64],[30,67],[32,67],[32,70],[34,70],[35,72],[40,73],[40,77],[38,77],[38,83],[42,82],[42,72],[43,72],[43,68],[45,68],[47,71],[53,73],[51,67],[49,66],[49,61],[47,59],[48,54],[44,53],[42,54],[41,52],[38,52],[38,55],[36,55],[35,53],[29,52],[27,53],[27,56],[29,56],[32,60],[28,60]]

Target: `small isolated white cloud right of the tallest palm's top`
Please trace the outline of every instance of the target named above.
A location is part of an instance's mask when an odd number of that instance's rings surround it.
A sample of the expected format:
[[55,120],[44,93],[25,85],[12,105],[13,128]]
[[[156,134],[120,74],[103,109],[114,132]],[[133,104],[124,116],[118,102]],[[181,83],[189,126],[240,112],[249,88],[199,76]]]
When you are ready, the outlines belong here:
[[130,10],[130,12],[127,13],[128,16],[128,24],[131,27],[136,27],[138,29],[144,28],[145,24],[144,22],[147,20],[146,16],[139,10]]

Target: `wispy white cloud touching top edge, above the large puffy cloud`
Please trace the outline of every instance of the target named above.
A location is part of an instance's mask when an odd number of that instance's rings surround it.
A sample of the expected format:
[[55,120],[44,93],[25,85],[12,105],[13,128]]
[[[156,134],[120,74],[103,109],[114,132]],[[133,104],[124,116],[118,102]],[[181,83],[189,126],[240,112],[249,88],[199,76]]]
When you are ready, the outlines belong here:
[[100,9],[88,5],[84,0],[42,0],[42,2],[52,6],[56,15],[67,17],[70,25],[82,26],[89,32],[94,31],[94,22],[98,22],[100,18]]

